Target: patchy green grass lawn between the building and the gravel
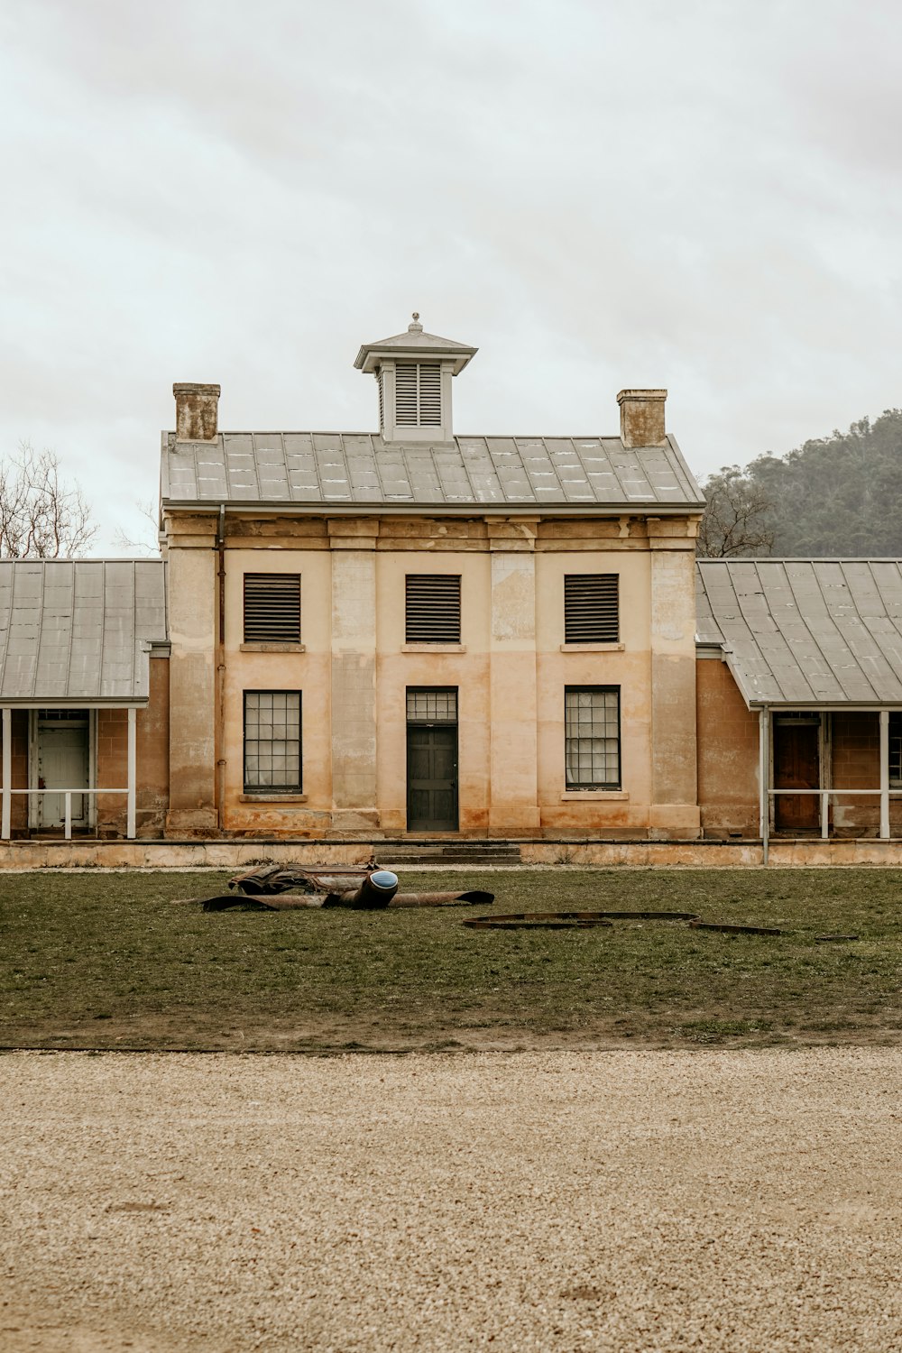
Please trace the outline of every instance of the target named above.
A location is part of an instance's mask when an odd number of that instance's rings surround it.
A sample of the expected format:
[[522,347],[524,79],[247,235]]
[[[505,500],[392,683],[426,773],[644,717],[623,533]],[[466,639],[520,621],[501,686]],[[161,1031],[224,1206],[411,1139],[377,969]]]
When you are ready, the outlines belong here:
[[[894,870],[418,874],[496,912],[695,911],[779,938],[615,921],[468,931],[444,911],[203,913],[227,874],[0,875],[0,1046],[521,1049],[860,1042],[902,1032]],[[817,944],[826,932],[856,942]]]

